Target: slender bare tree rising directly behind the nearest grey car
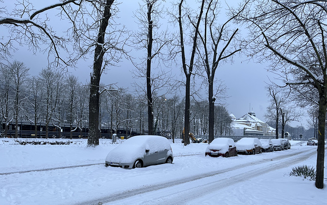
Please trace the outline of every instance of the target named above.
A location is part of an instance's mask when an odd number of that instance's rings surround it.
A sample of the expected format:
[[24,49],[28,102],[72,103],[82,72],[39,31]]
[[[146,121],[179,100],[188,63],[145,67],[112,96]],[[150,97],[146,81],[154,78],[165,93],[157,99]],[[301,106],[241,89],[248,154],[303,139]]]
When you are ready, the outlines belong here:
[[[144,5],[140,5],[139,10],[135,14],[140,30],[134,34],[133,41],[136,49],[145,50],[146,55],[144,58],[141,58],[141,63],[133,62],[137,69],[134,72],[134,76],[136,78],[146,78],[145,93],[148,105],[148,134],[155,134],[153,106],[156,98],[154,98],[154,93],[158,93],[158,90],[169,88],[168,81],[170,76],[161,69],[161,63],[165,64],[171,61],[166,58],[167,54],[165,55],[165,51],[167,52],[167,47],[172,40],[169,39],[169,32],[167,30],[160,30],[159,20],[163,18],[162,15],[164,14],[161,1],[144,0],[143,2]],[[139,87],[142,86],[136,85],[136,89],[139,90]]]

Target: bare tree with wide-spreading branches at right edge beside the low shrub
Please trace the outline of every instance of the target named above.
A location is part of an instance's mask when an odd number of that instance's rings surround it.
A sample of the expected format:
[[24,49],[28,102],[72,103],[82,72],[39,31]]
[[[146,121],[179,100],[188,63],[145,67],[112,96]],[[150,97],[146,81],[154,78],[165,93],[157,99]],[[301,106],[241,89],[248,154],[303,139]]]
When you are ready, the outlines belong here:
[[322,189],[327,108],[327,2],[271,0],[247,3],[249,6],[240,20],[248,22],[249,31],[255,37],[249,42],[252,51],[262,59],[271,60],[271,69],[281,73],[280,77],[284,77],[287,85],[295,87],[293,92],[309,99],[305,92],[311,90],[309,94],[314,92],[316,96],[310,98],[310,102],[319,107],[315,184]]

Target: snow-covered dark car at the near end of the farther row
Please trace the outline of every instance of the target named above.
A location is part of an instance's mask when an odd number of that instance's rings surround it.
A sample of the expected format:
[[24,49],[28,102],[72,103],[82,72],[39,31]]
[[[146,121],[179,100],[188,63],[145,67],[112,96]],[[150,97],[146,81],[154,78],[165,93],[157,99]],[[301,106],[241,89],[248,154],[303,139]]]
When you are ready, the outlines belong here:
[[237,156],[235,142],[230,138],[216,138],[205,150],[205,156]]

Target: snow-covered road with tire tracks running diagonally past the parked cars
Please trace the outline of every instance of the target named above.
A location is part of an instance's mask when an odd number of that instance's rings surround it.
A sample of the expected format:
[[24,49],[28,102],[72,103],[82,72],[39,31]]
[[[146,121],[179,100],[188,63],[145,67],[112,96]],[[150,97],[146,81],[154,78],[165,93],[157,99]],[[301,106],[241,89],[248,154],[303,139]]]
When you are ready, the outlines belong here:
[[98,204],[99,202],[104,204],[185,204],[194,199],[199,200],[208,193],[208,190],[215,190],[216,192],[226,187],[237,186],[237,183],[253,177],[260,177],[260,175],[284,168],[285,165],[291,166],[303,162],[315,153],[316,150],[314,149],[296,150],[288,155],[264,158],[249,164],[236,165],[218,171],[203,171],[203,173],[192,177],[184,177],[173,182],[140,189],[131,189],[127,192],[116,193],[82,204]]

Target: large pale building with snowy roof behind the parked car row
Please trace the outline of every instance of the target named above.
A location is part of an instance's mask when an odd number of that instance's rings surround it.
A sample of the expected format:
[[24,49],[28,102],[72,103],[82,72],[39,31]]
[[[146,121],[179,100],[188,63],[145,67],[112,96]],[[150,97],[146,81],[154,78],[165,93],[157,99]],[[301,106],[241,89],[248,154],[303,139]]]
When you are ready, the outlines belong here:
[[232,131],[235,135],[274,135],[275,129],[255,117],[255,112],[248,112],[239,119],[231,113]]

